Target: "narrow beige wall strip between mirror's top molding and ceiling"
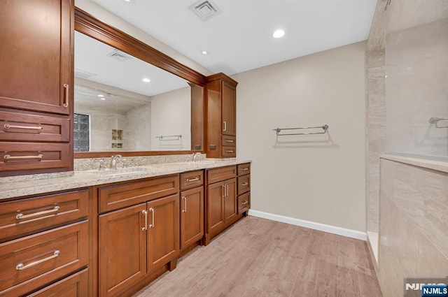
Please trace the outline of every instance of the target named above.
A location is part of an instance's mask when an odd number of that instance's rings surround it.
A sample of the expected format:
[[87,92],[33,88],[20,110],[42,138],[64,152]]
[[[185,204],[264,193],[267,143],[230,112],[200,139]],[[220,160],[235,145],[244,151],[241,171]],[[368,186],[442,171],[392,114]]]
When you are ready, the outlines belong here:
[[91,0],[75,0],[75,6],[86,11],[87,13],[90,13],[91,15],[94,15],[94,17],[97,17],[99,20],[102,20],[106,24],[110,24],[111,26],[124,31],[127,34],[130,34],[130,36],[139,39],[139,41],[151,45],[151,47],[155,48],[156,50],[160,50],[160,52],[163,52],[176,61],[179,61],[180,63],[195,69],[195,71],[198,71],[199,73],[202,73],[204,75],[213,74],[207,68],[204,68],[200,64],[197,64],[192,59],[189,59],[188,57],[182,55],[180,52],[174,50],[173,48],[170,48],[168,45],[162,43],[153,36],[146,34],[144,31],[141,31],[134,25],[126,22],[121,17],[114,15],[109,10],[104,9],[102,6],[99,6],[97,3],[94,3]]

